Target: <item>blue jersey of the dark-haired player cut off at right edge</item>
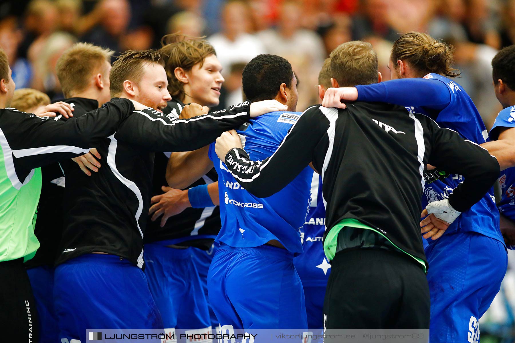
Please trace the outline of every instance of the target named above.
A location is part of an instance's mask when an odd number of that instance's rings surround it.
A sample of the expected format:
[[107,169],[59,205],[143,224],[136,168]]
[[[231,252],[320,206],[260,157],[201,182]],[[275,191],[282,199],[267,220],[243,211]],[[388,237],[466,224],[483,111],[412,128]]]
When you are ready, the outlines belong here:
[[[499,112],[490,130],[491,140],[499,138],[500,128],[515,128],[515,106],[506,107]],[[502,197],[497,207],[507,218],[515,221],[515,167],[503,170],[499,182]],[[515,249],[515,246],[509,246],[509,248]]]

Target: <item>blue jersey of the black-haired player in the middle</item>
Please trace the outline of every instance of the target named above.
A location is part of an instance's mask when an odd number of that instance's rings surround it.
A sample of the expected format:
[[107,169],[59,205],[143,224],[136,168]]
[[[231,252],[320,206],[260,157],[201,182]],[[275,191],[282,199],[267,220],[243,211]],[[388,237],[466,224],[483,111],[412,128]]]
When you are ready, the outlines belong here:
[[[253,160],[263,160],[279,148],[300,112],[270,112],[237,130],[244,149]],[[247,192],[227,171],[209,147],[209,158],[218,173],[222,227],[216,241],[231,247],[257,247],[278,240],[290,252],[302,252],[300,231],[310,198],[313,170],[306,167],[290,184],[267,198]]]

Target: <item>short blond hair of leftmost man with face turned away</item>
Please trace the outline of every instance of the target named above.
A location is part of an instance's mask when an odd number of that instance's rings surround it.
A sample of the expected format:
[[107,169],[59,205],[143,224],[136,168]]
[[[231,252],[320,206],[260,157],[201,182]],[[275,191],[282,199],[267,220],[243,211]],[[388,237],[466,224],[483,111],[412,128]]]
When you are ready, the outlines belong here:
[[[91,43],[76,43],[57,60],[56,73],[65,97],[84,91],[93,73],[104,63],[111,62],[113,51]],[[107,77],[107,75],[106,75]]]

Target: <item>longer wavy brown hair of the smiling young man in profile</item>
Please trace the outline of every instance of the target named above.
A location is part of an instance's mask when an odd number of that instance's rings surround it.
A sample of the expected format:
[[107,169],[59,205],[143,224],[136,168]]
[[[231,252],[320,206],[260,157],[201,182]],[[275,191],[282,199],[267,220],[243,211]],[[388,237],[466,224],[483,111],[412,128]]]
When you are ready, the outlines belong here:
[[161,40],[160,49],[165,56],[168,91],[172,96],[184,99],[184,84],[175,77],[175,68],[190,71],[194,65],[204,63],[210,55],[216,56],[215,48],[206,40],[199,37],[188,37],[179,33],[167,34]]

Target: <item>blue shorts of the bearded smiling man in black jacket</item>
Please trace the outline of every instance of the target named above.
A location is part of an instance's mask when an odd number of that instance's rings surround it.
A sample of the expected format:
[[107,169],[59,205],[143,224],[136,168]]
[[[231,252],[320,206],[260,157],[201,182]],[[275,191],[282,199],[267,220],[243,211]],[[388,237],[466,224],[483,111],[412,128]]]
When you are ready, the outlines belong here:
[[87,329],[163,329],[145,274],[115,255],[84,254],[55,269],[59,338],[85,342]]

